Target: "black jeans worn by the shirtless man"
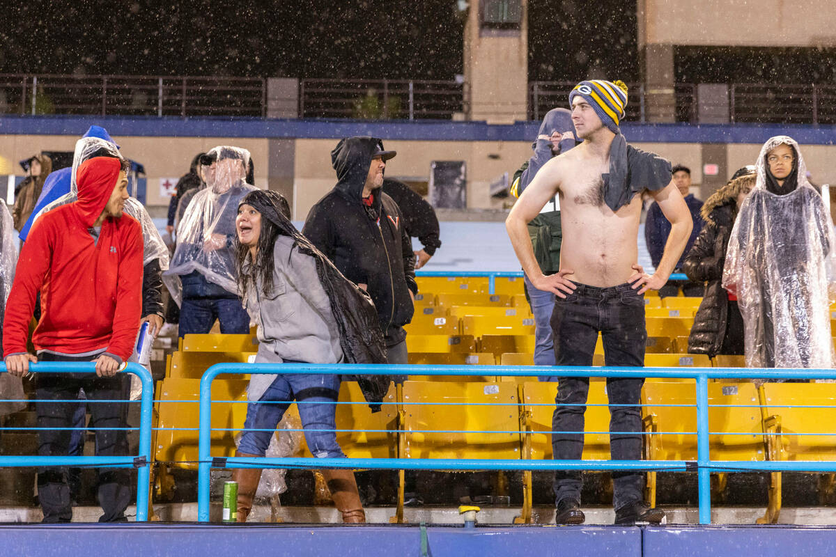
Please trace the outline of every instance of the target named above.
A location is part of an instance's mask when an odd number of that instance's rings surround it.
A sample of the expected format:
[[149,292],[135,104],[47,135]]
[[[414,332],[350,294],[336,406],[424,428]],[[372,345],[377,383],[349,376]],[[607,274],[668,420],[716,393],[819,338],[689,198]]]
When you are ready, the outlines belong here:
[[[598,288],[579,284],[566,299],[557,297],[552,313],[554,355],[558,366],[591,366],[598,333],[604,342],[607,366],[645,365],[645,300],[629,284]],[[641,386],[643,378],[607,378],[609,408],[609,451],[613,459],[641,459]],[[553,458],[577,460],[584,452],[584,412],[589,377],[560,377],[554,403],[552,429]],[[568,406],[577,405],[577,406]],[[635,472],[614,472],[613,506],[644,499],[645,476]],[[554,474],[555,502],[573,499],[580,503],[579,472],[558,470]]]

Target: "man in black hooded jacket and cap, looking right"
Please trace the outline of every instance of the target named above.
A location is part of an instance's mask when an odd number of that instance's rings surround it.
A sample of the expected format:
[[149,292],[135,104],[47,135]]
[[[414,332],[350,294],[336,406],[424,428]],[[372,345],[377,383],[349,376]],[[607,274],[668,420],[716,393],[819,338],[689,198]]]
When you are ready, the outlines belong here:
[[385,161],[395,151],[374,137],[340,139],[331,151],[337,185],[308,213],[303,235],[375,302],[389,363],[408,363],[406,332],[412,320],[415,256],[404,217],[383,185]]

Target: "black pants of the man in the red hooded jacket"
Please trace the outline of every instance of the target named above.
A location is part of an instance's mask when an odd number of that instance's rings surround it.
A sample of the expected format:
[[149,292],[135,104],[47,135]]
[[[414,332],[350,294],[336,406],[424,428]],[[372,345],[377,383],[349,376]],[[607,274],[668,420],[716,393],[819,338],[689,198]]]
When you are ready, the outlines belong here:
[[[42,353],[41,362],[89,362],[90,357],[62,357]],[[38,373],[36,396],[38,402],[38,454],[41,456],[66,455],[69,450],[69,429],[74,427],[73,415],[78,408],[79,388],[84,388],[90,409],[89,427],[96,436],[96,454],[99,456],[124,456],[128,453],[125,430],[99,428],[125,428],[126,403],[98,403],[97,400],[127,400],[128,377],[97,377],[94,373]],[[40,402],[40,401],[68,402]],[[125,509],[130,503],[130,472],[125,468],[99,468],[99,504],[104,514],[99,522],[125,520]],[[73,518],[67,485],[67,469],[38,469],[38,499],[43,509],[43,522],[69,522]]]

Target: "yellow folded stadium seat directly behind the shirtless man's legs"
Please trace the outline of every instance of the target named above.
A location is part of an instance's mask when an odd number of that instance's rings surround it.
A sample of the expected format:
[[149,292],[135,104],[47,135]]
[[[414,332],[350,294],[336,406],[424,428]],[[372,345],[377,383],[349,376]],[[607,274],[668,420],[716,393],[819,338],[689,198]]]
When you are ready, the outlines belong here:
[[[584,460],[609,460],[609,408],[594,406],[607,404],[606,382],[599,377],[589,381],[589,397],[584,414]],[[552,458],[552,416],[556,382],[523,382],[519,385],[520,427],[522,429],[523,458],[548,460]],[[521,522],[531,523],[531,471],[523,473],[523,513]]]

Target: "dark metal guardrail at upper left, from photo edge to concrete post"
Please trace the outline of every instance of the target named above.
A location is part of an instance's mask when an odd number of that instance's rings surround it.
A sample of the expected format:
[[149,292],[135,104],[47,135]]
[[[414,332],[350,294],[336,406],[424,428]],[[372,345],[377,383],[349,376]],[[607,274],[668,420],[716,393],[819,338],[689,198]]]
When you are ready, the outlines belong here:
[[0,74],[0,114],[267,115],[267,80]]

